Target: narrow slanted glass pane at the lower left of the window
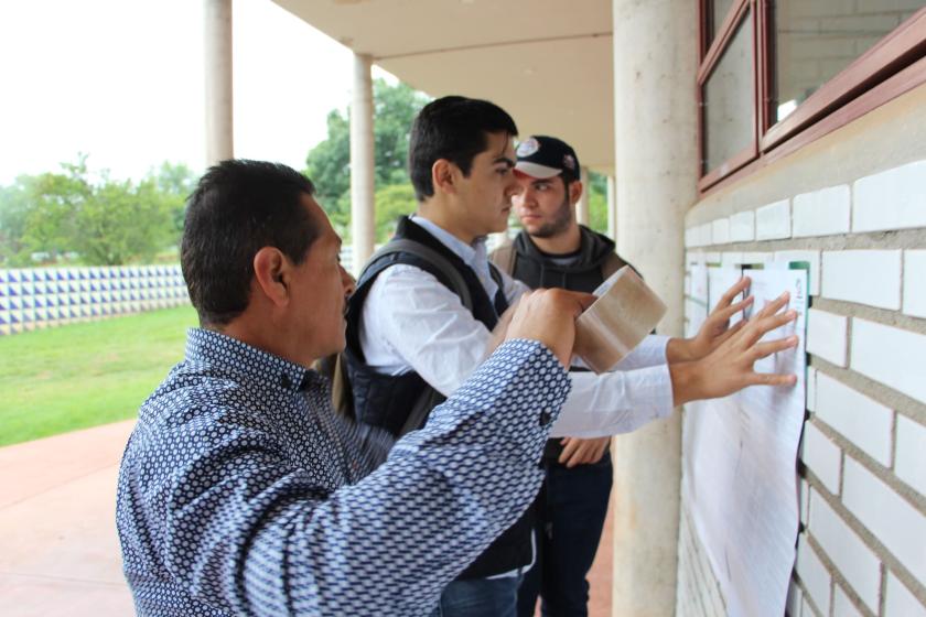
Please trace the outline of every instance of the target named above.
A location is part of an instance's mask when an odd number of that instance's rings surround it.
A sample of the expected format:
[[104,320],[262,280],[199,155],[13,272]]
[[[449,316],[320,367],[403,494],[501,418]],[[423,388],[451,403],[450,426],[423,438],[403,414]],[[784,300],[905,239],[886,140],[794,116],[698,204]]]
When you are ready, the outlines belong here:
[[746,12],[702,88],[703,173],[719,167],[755,140],[755,73],[752,15]]

